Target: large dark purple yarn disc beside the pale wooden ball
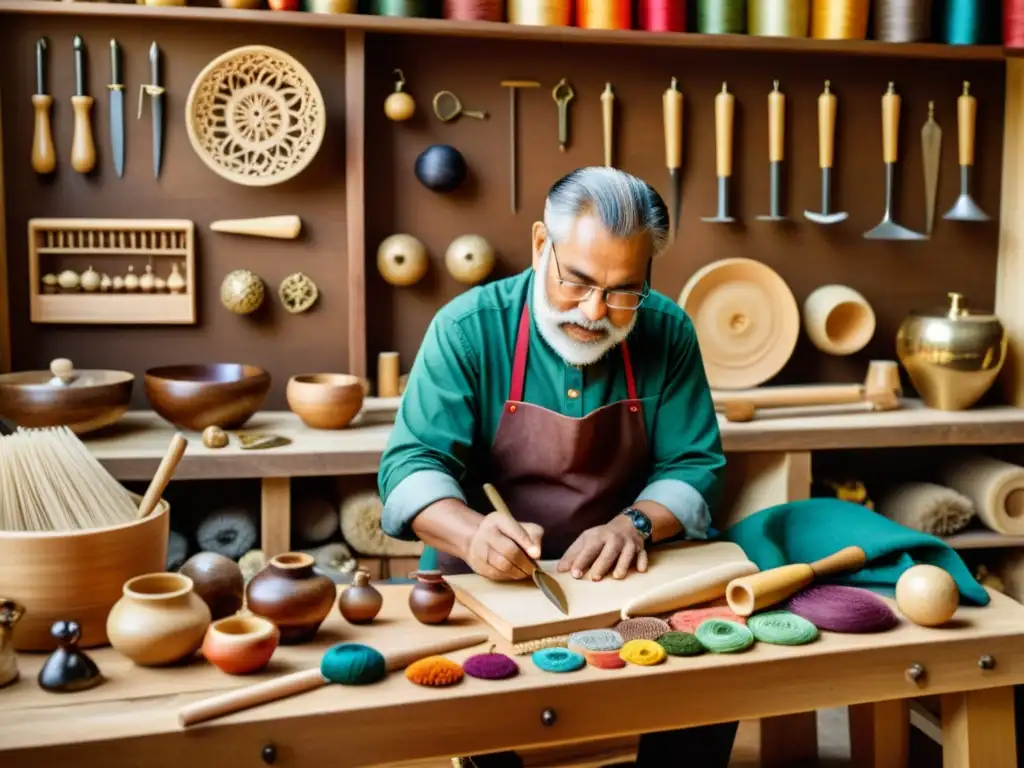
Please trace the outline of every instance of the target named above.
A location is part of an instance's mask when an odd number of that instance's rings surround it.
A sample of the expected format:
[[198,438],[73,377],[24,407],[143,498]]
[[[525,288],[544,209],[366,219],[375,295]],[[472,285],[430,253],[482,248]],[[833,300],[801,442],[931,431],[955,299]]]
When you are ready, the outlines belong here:
[[859,587],[822,584],[790,598],[786,608],[819,630],[829,632],[885,632],[899,620],[881,597]]

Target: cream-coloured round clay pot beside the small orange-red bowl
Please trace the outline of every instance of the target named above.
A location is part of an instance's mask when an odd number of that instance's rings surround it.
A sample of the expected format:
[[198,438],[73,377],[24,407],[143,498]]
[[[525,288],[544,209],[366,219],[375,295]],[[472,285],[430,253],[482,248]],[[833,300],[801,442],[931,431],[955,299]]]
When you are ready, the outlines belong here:
[[106,617],[114,649],[140,667],[173,664],[203,644],[210,609],[181,573],[146,573],[129,579]]

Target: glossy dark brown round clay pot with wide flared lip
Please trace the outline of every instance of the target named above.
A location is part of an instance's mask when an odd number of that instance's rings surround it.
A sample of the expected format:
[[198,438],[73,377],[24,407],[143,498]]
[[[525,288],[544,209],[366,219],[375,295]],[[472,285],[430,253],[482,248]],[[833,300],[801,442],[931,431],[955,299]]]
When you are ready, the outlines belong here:
[[246,587],[249,610],[278,625],[282,645],[312,640],[334,605],[337,588],[314,563],[303,552],[278,555]]

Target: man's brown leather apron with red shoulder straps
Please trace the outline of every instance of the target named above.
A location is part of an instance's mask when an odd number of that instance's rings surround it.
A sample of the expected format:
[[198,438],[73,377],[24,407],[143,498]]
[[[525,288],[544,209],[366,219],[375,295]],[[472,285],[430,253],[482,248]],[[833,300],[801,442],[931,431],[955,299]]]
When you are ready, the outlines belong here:
[[[636,501],[646,484],[649,453],[626,342],[620,348],[629,398],[583,418],[563,416],[522,399],[530,325],[524,304],[509,398],[479,474],[481,483],[498,488],[517,520],[544,527],[542,559],[548,560],[560,558],[584,530],[603,525]],[[465,488],[473,509],[490,511],[489,504],[476,502],[482,494]],[[437,553],[437,567],[444,573],[469,571],[443,552]]]

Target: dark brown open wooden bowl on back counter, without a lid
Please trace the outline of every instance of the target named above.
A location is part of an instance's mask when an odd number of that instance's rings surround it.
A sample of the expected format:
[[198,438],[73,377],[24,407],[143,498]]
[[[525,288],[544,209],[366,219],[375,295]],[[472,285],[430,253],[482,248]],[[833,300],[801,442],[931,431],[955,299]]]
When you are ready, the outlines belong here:
[[162,418],[182,429],[238,429],[260,410],[270,374],[256,366],[215,362],[164,366],[145,372],[145,397]]

